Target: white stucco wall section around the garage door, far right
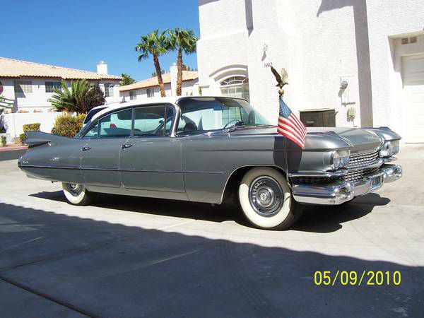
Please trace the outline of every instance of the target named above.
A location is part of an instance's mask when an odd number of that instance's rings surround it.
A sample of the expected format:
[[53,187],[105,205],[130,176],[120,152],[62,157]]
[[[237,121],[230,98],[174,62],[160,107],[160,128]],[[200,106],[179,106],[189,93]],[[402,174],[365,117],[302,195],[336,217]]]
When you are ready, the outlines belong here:
[[424,34],[424,1],[367,1],[374,126],[404,133],[405,99],[401,57],[424,52],[423,41],[401,45],[401,37]]

